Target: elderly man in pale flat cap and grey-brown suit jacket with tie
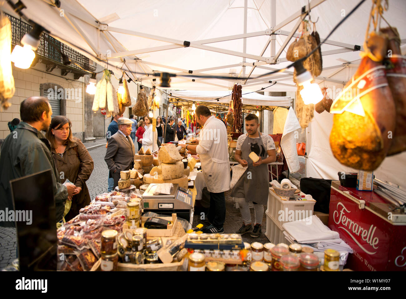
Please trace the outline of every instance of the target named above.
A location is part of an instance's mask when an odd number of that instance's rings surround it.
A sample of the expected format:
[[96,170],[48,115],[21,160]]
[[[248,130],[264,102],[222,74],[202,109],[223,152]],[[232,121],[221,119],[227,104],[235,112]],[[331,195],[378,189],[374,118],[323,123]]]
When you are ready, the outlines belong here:
[[119,130],[108,140],[104,160],[114,179],[114,187],[118,186],[120,171],[134,167],[135,147],[130,138],[132,121],[127,117],[120,117],[117,121]]

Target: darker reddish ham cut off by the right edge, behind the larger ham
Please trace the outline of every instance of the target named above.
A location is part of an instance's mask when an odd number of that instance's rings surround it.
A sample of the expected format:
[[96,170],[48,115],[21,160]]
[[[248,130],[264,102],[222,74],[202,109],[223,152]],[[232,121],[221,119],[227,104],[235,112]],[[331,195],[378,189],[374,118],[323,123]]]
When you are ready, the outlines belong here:
[[394,27],[381,28],[380,32],[388,36],[388,57],[385,59],[386,78],[392,92],[396,109],[395,132],[388,156],[406,150],[406,56],[400,50],[400,36]]

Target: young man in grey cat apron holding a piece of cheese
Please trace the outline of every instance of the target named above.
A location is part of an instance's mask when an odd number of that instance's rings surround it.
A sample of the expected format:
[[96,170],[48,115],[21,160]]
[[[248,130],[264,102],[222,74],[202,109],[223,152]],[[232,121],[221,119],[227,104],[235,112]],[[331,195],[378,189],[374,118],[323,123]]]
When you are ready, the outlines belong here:
[[[247,167],[245,173],[235,184],[232,197],[238,198],[238,205],[242,217],[242,227],[236,234],[251,232],[251,237],[258,238],[261,234],[263,218],[263,205],[268,202],[269,173],[268,164],[275,162],[275,143],[269,135],[259,132],[259,119],[255,114],[245,117],[245,129],[247,134],[238,137],[235,148],[235,160],[242,166]],[[248,155],[255,152],[259,160],[254,163]],[[255,210],[255,225],[251,225],[251,212],[248,202],[253,202]]]

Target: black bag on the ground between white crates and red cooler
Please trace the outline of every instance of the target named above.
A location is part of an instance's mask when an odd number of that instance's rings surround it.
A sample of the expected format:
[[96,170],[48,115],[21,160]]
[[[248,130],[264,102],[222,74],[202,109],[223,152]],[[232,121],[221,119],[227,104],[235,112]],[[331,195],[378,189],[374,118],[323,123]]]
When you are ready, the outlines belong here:
[[330,205],[330,189],[332,180],[302,178],[300,180],[300,191],[310,194],[315,200],[315,212],[328,214]]

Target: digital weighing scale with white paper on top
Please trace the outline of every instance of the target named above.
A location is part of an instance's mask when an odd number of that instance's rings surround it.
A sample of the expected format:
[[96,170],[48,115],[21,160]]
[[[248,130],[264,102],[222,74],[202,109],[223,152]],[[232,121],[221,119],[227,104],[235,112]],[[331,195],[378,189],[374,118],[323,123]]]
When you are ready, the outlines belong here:
[[153,195],[153,191],[159,184],[149,184],[142,195],[144,212],[154,212],[171,216],[176,213],[177,217],[193,222],[192,192],[173,184],[171,194]]

